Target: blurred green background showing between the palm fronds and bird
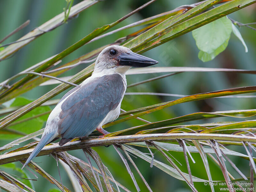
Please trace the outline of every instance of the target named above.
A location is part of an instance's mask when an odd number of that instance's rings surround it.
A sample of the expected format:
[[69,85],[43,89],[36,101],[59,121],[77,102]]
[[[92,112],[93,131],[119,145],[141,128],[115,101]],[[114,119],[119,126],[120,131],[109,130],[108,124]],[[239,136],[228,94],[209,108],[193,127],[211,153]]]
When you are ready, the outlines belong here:
[[[75,0],[74,4],[77,4],[79,2],[79,0]],[[132,10],[136,9],[137,7],[146,2],[146,0],[105,0],[93,5],[92,7],[81,12],[76,19],[70,20],[67,24],[64,24],[54,29],[53,31],[44,34],[43,36],[40,36],[24,48],[22,48],[20,51],[18,51],[12,58],[1,61],[0,81],[2,82],[5,79],[19,73],[20,71],[44,59],[47,59],[54,54],[59,53],[60,51],[64,50],[68,46],[83,38],[88,33],[92,32],[95,28],[116,21],[117,19],[121,18],[125,14],[131,12]],[[114,29],[162,12],[170,11],[180,5],[193,4],[195,2],[197,1],[158,0],[143,9],[142,11],[124,20]],[[19,39],[21,36],[27,34],[33,28],[40,26],[47,20],[50,20],[52,17],[61,13],[63,11],[63,7],[65,6],[65,0],[1,0],[0,39],[2,39],[12,30],[20,26],[26,20],[30,20],[30,24],[28,25],[28,27],[22,29],[17,34],[8,38],[3,44]],[[250,23],[256,21],[255,11],[256,4],[253,4],[229,16],[239,22]],[[62,60],[62,63],[73,60],[85,54],[86,52],[89,52],[100,46],[112,43],[116,39],[126,36],[140,28],[141,27],[136,27],[120,31],[101,40],[86,44],[72,54],[68,55],[66,58],[64,58]],[[255,31],[250,30],[246,27],[240,27],[239,31],[241,32],[244,41],[248,46],[248,53],[244,52],[243,45],[236,38],[236,36],[232,34],[227,49],[220,55],[218,55],[214,60],[203,63],[197,57],[199,50],[196,47],[195,40],[193,39],[192,34],[188,33],[184,36],[160,45],[148,52],[145,52],[144,55],[152,59],[158,60],[158,66],[237,68],[255,70]],[[88,65],[83,64],[64,73],[62,76],[74,75],[86,66]],[[130,75],[127,76],[127,84],[132,84],[159,75],[161,74]],[[252,86],[255,85],[255,83],[256,78],[253,75],[249,74],[245,75],[225,72],[186,72],[177,74],[175,76],[166,77],[152,83],[129,88],[127,89],[127,92],[159,92],[191,95],[200,92],[210,92],[233,87]],[[55,86],[56,85],[39,86],[23,94],[22,96],[28,99],[35,100],[43,94],[47,93]],[[61,98],[66,92],[67,91],[61,93],[60,95],[55,97],[55,99]],[[177,98],[151,95],[127,95],[124,97],[121,108],[123,108],[124,110],[130,110],[174,99]],[[256,102],[254,98],[210,99],[179,104],[177,106],[175,105],[171,108],[167,108],[149,114],[147,116],[143,116],[142,118],[154,122],[199,111],[213,112],[220,110],[252,109],[255,107]],[[235,118],[222,117],[218,119],[210,119],[207,121],[188,122],[188,124],[232,120],[235,120]],[[118,126],[112,126],[108,128],[108,131],[113,132],[140,124],[140,121],[133,119]],[[27,127],[26,124],[23,124],[23,126],[25,129],[32,129],[32,131],[36,131],[33,130],[32,125],[30,127]],[[44,126],[42,126],[42,128],[43,127]],[[1,138],[0,146],[11,141],[12,140],[6,140],[4,138]],[[237,152],[240,152],[239,147],[233,149],[236,149]],[[100,154],[103,163],[108,166],[109,170],[118,182],[126,186],[131,191],[136,190],[129,174],[124,167],[124,164],[122,163],[120,157],[117,155],[113,147],[97,147],[94,148],[94,150],[96,150]],[[145,152],[148,153],[147,150],[145,150]],[[85,156],[81,150],[70,151],[70,154],[85,160]],[[175,156],[175,158],[177,158],[182,164],[182,166],[180,166],[181,170],[187,172],[183,153],[171,152],[171,154]],[[192,165],[193,163],[190,161],[192,174],[202,179],[207,179],[207,175],[200,156],[198,154],[193,154],[193,157],[195,157],[196,164]],[[153,191],[190,191],[189,187],[185,182],[172,178],[170,175],[158,170],[155,167],[150,168],[149,164],[141,159],[133,159],[145,179],[148,181],[149,185],[152,187]],[[164,162],[166,161],[166,159],[162,158],[162,156],[157,152],[156,159]],[[246,176],[249,176],[248,161],[243,160],[239,157],[232,157],[232,160],[244,172]],[[220,168],[216,166],[216,164],[210,159],[209,161],[213,180],[224,180]],[[54,178],[60,180],[58,169],[56,167],[56,161],[53,158],[50,158],[49,156],[37,157],[35,158],[35,162],[41,162],[39,163],[39,166],[41,166],[46,172],[50,173]],[[165,163],[168,164],[167,162]],[[21,167],[21,164],[19,162],[16,164],[17,166]],[[61,177],[64,185],[72,189],[66,172],[62,169],[61,166],[60,168]],[[228,168],[233,176],[235,176],[236,178],[240,178],[240,176],[232,169],[232,167]],[[135,172],[134,169],[132,169],[132,171],[134,172],[135,178],[139,183],[141,191],[147,191],[147,188],[140,180],[138,174]],[[13,171],[13,173],[15,173],[15,171]],[[31,178],[34,178],[32,174],[28,174],[31,176]],[[45,192],[51,188],[56,188],[55,185],[52,185],[41,176],[39,176],[37,181],[33,181],[33,184],[37,192]],[[210,191],[209,186],[204,186],[203,183],[196,183],[195,186],[198,191]],[[215,187],[215,189],[216,191],[219,191],[218,187]]]

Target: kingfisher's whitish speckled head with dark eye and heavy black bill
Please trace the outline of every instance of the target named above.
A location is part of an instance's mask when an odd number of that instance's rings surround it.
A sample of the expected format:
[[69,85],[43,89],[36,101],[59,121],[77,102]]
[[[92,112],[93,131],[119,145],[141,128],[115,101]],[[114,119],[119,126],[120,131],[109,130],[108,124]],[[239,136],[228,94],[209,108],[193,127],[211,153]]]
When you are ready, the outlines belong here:
[[158,62],[132,52],[120,45],[111,45],[103,49],[95,61],[94,71],[113,68],[116,72],[125,73],[131,67],[148,67]]

